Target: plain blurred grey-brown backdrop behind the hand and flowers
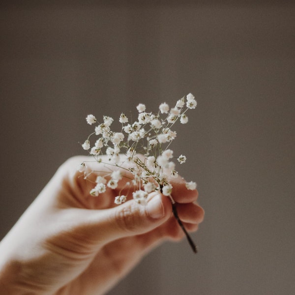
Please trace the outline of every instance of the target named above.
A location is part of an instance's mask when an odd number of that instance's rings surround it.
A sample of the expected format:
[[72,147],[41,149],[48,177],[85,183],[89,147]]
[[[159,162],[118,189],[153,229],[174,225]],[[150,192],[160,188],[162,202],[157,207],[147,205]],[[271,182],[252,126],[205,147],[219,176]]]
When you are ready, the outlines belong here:
[[59,165],[85,118],[156,111],[192,92],[179,173],[205,221],[108,295],[295,294],[295,4],[1,1],[0,235]]

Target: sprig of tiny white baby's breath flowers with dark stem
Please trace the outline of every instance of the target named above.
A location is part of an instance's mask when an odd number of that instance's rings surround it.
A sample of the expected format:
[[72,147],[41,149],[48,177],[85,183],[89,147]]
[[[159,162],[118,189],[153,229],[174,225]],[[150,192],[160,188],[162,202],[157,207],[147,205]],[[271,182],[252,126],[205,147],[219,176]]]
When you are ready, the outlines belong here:
[[[89,192],[91,196],[97,197],[103,194],[108,187],[116,189],[123,177],[131,178],[125,186],[132,188],[132,197],[139,204],[147,203],[149,193],[160,191],[170,198],[174,215],[194,252],[197,252],[197,248],[178,218],[172,198],[172,179],[177,177],[173,159],[183,164],[186,156],[183,154],[175,156],[169,147],[177,137],[177,133],[172,129],[174,124],[178,120],[181,124],[186,124],[188,122],[186,112],[195,109],[196,106],[197,101],[191,93],[179,99],[172,108],[166,102],[161,103],[155,114],[147,112],[146,105],[140,103],[136,107],[138,111],[136,121],[130,122],[129,118],[121,113],[118,118],[121,123],[120,131],[111,129],[113,118],[103,116],[103,121],[98,122],[95,116],[88,115],[87,123],[95,124],[95,127],[82,144],[82,148],[89,151],[95,162],[108,165],[109,170],[109,173],[96,177]],[[79,165],[78,171],[84,173],[85,178],[93,172],[85,162]],[[194,190],[197,184],[189,181],[185,186],[188,190]],[[127,200],[127,196],[121,192],[122,190],[114,199],[117,205]]]

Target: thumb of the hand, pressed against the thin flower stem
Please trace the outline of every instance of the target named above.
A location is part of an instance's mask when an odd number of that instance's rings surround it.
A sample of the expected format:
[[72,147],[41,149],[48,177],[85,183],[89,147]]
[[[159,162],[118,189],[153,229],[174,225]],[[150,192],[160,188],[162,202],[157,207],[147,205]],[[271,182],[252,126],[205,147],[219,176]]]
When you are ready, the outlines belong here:
[[97,242],[107,243],[153,230],[171,216],[172,205],[167,197],[152,193],[146,206],[130,200],[114,208],[93,211],[87,223],[89,233]]

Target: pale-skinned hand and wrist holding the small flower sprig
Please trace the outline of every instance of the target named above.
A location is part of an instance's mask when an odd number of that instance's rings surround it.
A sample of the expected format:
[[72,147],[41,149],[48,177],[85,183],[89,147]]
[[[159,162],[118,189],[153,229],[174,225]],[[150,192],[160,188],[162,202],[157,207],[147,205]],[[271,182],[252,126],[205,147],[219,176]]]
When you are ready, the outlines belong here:
[[[169,198],[151,193],[148,205],[139,205],[124,188],[126,177],[117,189],[89,195],[96,176],[110,170],[99,164],[100,172],[85,180],[76,169],[83,161],[91,166],[92,158],[77,156],[61,165],[0,242],[0,294],[105,294],[154,247],[184,237]],[[179,218],[194,232],[204,218],[198,192],[187,190],[181,177],[173,179]],[[128,200],[118,206],[120,190]]]

